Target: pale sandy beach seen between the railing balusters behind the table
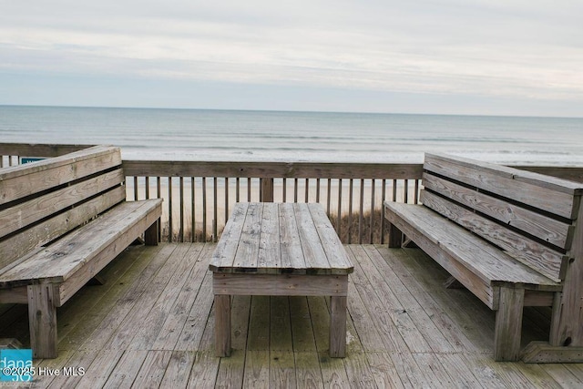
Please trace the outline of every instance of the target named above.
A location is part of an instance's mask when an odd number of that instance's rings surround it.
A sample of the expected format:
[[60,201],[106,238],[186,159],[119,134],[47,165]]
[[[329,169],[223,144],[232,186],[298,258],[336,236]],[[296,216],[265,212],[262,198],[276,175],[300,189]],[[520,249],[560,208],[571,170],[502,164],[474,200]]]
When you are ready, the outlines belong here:
[[[164,199],[163,236],[168,236],[170,233],[175,239],[180,240],[182,228],[184,241],[190,241],[191,230],[194,227],[199,237],[198,240],[201,239],[203,231],[207,240],[212,240],[215,233],[220,235],[220,231],[229,218],[230,210],[237,201],[260,201],[259,179],[251,179],[251,186],[248,183],[247,179],[240,179],[238,190],[235,179],[230,179],[229,185],[225,185],[224,179],[216,179],[216,182],[213,179],[206,179],[205,185],[203,185],[202,179],[193,181],[190,178],[182,180],[173,178],[171,186],[168,178],[159,179],[159,182],[157,179],[149,179],[147,196],[146,180],[140,178],[138,179],[137,198],[134,190],[134,179],[128,179],[127,193],[128,200],[143,200],[147,197]],[[340,188],[338,179],[332,179],[330,182],[327,179],[321,179],[320,188],[318,188],[315,179],[298,179],[297,185],[294,179],[286,179],[285,185],[282,179],[276,179],[273,185],[273,200],[276,202],[319,202],[329,213],[334,226],[338,222],[339,214],[343,217],[351,215],[351,219],[358,219],[361,212],[368,215],[382,209],[382,180],[374,180],[374,183],[371,179],[364,180],[361,189],[361,180],[354,179],[352,196],[349,179],[343,179],[342,191],[339,190]],[[403,188],[404,182],[399,180],[395,200],[403,201]],[[362,209],[361,196],[363,197]],[[387,200],[393,200],[393,180],[385,182],[384,196]],[[413,201],[413,199],[414,181],[411,180],[409,181],[409,201]]]

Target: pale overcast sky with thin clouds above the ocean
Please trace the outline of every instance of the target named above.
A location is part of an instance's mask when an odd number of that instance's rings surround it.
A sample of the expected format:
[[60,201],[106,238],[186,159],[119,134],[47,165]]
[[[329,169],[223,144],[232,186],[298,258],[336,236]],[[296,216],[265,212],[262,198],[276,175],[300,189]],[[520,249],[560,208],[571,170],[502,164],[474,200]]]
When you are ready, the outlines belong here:
[[0,0],[0,104],[583,117],[581,0]]

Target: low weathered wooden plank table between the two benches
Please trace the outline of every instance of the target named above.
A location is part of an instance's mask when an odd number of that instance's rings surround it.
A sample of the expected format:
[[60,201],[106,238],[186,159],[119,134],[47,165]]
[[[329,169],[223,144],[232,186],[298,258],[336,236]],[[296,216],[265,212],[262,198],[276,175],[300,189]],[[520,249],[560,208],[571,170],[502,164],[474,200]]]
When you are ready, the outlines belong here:
[[353,264],[320,204],[236,204],[209,269],[218,356],[230,355],[231,295],[331,296],[330,356],[346,353]]

